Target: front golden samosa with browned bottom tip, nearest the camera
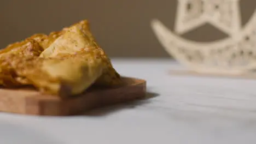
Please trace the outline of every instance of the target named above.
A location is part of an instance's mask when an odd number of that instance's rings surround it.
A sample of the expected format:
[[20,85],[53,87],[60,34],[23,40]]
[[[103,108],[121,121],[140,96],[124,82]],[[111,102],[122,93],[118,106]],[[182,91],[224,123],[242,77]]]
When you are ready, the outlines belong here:
[[98,51],[81,51],[54,58],[20,58],[12,64],[16,74],[26,77],[40,92],[62,97],[82,93],[105,69]]

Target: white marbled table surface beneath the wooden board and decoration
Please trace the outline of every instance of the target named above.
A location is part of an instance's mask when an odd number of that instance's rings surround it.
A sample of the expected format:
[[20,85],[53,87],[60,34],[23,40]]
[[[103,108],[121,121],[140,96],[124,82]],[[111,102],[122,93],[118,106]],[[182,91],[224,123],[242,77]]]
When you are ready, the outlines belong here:
[[256,80],[168,75],[181,67],[170,59],[113,64],[152,98],[83,116],[0,113],[0,143],[256,143]]

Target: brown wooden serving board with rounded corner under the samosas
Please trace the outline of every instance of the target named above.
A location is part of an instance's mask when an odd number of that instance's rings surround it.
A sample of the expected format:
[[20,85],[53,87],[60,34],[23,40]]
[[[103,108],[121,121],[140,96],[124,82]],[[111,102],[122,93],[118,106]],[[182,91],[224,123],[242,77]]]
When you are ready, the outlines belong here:
[[0,89],[0,111],[26,115],[74,115],[96,107],[135,100],[146,96],[146,81],[123,77],[125,85],[90,89],[71,98],[42,95],[32,89]]

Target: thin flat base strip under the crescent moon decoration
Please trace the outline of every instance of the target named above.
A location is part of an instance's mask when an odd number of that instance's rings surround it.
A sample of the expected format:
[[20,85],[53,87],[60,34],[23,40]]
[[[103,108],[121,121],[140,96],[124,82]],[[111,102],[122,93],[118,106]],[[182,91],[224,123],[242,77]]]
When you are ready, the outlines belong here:
[[186,76],[202,76],[202,77],[223,77],[232,79],[256,79],[256,73],[248,74],[214,74],[214,73],[197,73],[190,70],[170,70],[171,75],[186,75]]

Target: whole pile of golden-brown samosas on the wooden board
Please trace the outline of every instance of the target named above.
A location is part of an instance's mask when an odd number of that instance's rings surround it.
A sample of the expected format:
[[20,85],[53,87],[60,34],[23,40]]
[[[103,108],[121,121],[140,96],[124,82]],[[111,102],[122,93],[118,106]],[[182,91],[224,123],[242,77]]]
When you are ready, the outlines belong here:
[[91,85],[123,83],[97,45],[87,20],[8,45],[0,51],[0,63],[0,85],[33,85],[54,95],[75,95]]

